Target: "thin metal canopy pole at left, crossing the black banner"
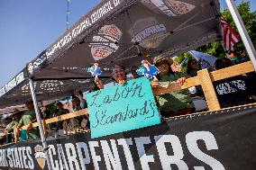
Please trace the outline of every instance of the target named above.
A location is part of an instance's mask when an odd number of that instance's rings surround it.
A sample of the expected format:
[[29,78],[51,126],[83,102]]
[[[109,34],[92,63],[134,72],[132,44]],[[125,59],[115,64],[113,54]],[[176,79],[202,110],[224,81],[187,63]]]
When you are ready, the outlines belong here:
[[29,79],[29,81],[30,81],[30,88],[31,88],[31,94],[32,94],[32,101],[33,101],[33,105],[34,105],[34,111],[35,111],[35,114],[36,114],[36,120],[38,122],[39,130],[40,130],[43,152],[46,156],[48,169],[51,170],[52,168],[51,168],[51,164],[50,164],[50,157],[49,157],[48,147],[47,147],[46,139],[45,139],[44,134],[43,134],[42,123],[41,123],[41,114],[40,114],[39,107],[38,107],[37,100],[36,100],[36,96],[35,96],[35,93],[34,93],[33,81],[32,81],[31,78]]

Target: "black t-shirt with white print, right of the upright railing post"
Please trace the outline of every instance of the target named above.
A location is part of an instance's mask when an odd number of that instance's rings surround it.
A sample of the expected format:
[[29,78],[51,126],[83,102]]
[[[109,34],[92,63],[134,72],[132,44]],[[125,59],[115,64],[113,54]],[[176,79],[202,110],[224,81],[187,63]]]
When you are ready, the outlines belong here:
[[214,82],[215,93],[222,108],[252,103],[247,76],[234,76]]

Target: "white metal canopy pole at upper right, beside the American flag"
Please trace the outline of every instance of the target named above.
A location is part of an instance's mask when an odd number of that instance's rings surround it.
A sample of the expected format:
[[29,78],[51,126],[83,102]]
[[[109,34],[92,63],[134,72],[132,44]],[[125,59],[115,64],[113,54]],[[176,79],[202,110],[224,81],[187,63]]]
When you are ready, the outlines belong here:
[[229,11],[230,11],[232,17],[233,17],[233,21],[236,25],[236,28],[239,31],[239,34],[242,38],[242,42],[245,46],[245,49],[247,50],[249,57],[251,58],[251,62],[254,67],[254,70],[256,70],[256,51],[253,47],[253,44],[249,37],[249,34],[246,31],[245,26],[242,22],[242,18],[240,16],[240,14],[238,13],[233,0],[225,0],[225,2],[229,8]]

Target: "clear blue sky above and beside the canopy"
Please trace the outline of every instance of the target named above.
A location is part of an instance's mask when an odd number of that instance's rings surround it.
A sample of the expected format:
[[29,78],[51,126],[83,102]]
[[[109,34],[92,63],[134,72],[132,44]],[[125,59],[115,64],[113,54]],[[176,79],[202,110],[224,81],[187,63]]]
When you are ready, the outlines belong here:
[[[70,0],[69,25],[99,2]],[[226,8],[224,0],[220,3],[221,9]],[[256,10],[255,0],[251,9]],[[66,31],[66,14],[67,0],[0,1],[0,88]]]

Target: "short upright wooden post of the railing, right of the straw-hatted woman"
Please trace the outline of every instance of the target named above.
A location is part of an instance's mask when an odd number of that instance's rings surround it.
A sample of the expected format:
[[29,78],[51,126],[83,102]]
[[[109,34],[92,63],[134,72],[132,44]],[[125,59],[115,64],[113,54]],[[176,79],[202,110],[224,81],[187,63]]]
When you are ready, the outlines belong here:
[[200,84],[202,85],[209,111],[220,110],[221,107],[215,93],[215,87],[208,70],[200,70],[197,72],[197,75],[199,76]]

